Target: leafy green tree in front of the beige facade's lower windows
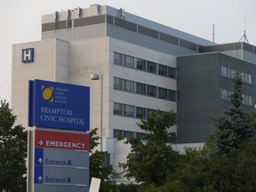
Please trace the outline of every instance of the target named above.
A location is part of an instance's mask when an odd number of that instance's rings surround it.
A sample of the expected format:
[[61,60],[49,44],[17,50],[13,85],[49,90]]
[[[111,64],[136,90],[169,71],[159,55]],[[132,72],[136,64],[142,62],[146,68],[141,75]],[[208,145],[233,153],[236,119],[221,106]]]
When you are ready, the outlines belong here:
[[173,136],[168,132],[175,123],[175,114],[171,112],[152,111],[147,119],[138,124],[148,134],[145,138],[129,138],[124,143],[131,144],[131,153],[127,162],[120,164],[126,170],[125,177],[135,178],[146,185],[161,186],[169,172],[175,169],[178,153],[166,143]]

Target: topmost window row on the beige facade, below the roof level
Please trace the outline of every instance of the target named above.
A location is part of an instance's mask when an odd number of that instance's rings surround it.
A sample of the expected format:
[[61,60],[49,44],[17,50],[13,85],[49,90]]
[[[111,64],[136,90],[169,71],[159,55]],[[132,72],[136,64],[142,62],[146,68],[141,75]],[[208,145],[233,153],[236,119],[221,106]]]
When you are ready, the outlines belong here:
[[136,68],[159,76],[176,78],[176,68],[171,68],[148,60],[134,58],[119,52],[114,52],[114,64],[124,66],[126,68]]

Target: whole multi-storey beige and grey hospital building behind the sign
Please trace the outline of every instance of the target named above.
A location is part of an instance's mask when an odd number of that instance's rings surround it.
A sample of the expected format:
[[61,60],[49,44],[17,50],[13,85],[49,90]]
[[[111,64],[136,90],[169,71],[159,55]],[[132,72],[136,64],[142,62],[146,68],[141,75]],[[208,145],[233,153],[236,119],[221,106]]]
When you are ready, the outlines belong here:
[[[12,108],[28,127],[28,80],[90,87],[90,127],[99,149],[122,172],[129,146],[119,136],[141,137],[140,118],[173,110],[172,148],[202,146],[212,132],[210,116],[230,102],[233,71],[242,72],[243,109],[256,104],[256,46],[216,44],[124,9],[92,4],[42,16],[42,39],[12,45]],[[76,92],[74,92],[76,94]],[[102,131],[102,132],[100,132]]]

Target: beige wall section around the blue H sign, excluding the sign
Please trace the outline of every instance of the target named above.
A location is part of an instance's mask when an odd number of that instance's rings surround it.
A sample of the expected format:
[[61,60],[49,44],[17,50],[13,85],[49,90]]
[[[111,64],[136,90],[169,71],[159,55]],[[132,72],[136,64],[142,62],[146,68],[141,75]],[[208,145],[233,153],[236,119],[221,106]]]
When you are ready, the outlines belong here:
[[[22,62],[22,49],[35,48],[34,62]],[[28,128],[28,81],[55,81],[56,40],[49,39],[12,46],[12,108],[18,117],[16,124]]]

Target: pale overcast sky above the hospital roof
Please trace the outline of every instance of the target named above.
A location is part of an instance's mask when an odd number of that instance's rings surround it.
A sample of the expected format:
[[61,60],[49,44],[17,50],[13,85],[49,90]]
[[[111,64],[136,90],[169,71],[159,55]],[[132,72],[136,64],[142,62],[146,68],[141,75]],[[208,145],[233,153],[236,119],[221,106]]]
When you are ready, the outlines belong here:
[[218,44],[256,45],[256,0],[0,0],[0,100],[11,101],[12,44],[41,40],[41,16],[107,4]]

